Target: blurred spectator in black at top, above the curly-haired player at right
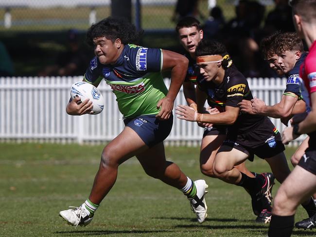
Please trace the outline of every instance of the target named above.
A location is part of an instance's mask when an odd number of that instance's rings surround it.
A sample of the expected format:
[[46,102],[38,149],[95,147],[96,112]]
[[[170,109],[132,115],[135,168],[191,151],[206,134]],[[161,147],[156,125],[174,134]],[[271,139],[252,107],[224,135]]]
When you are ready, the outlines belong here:
[[264,29],[267,34],[275,31],[294,32],[294,24],[292,19],[292,8],[288,4],[288,0],[274,0],[275,8],[268,13]]

